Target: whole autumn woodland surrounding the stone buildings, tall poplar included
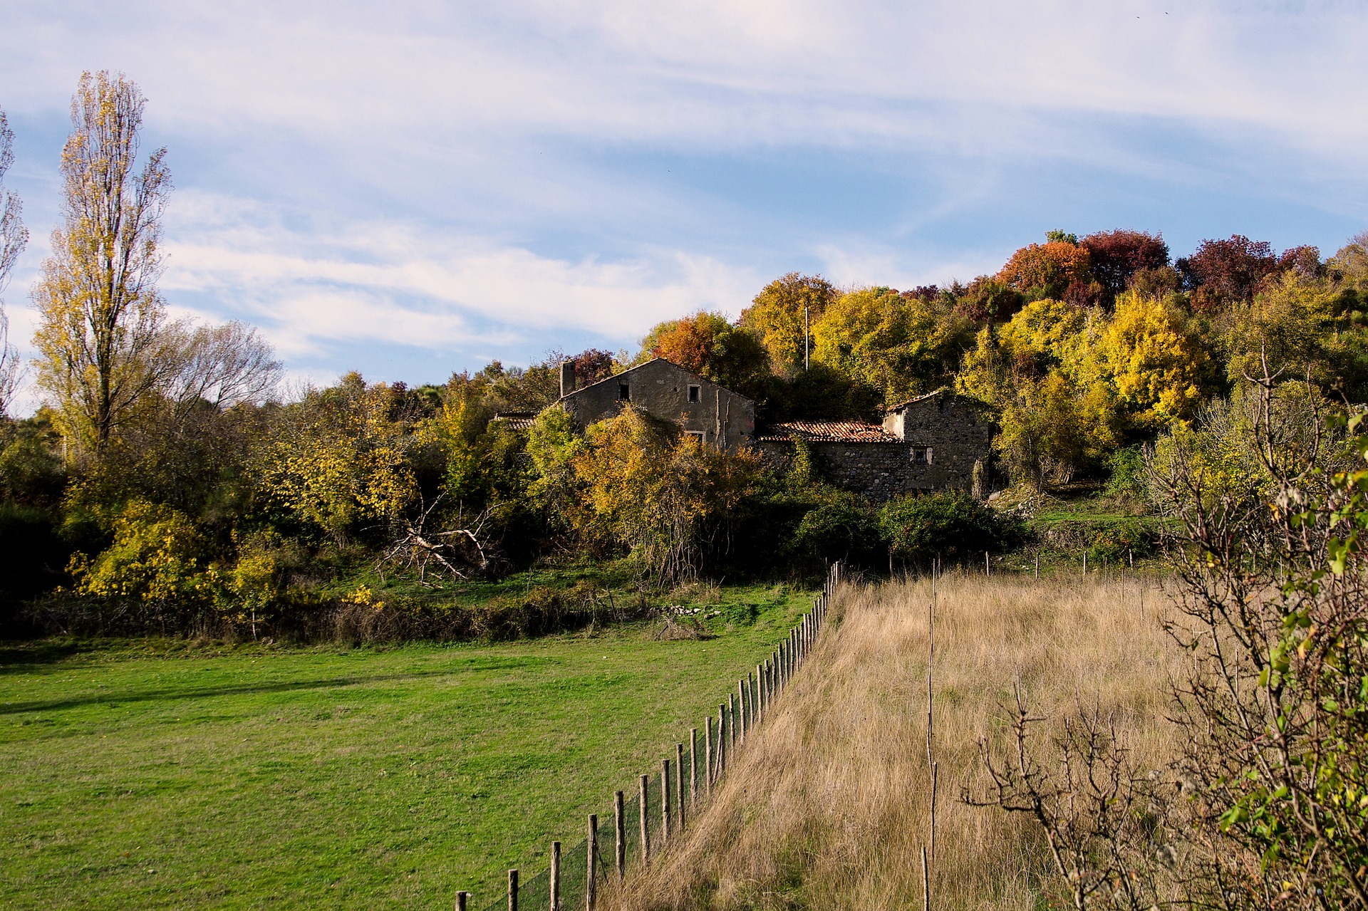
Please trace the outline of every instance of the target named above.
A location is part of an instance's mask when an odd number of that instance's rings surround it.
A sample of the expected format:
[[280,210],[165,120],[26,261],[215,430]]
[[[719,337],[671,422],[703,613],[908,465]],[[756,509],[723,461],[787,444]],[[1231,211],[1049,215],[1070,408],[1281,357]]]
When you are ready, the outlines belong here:
[[[1213,465],[1245,451],[1237,431],[1265,365],[1298,408],[1368,398],[1368,237],[1328,259],[1239,235],[1174,259],[1160,235],[1115,230],[1052,231],[969,283],[841,289],[789,274],[737,320],[685,315],[637,352],[494,361],[442,386],[349,373],[286,401],[253,328],[167,316],[171,175],[164,149],[140,153],[144,104],[123,77],[82,78],[63,222],[30,290],[37,357],[21,364],[5,345],[0,358],[0,404],[23,372],[44,402],[0,431],[11,626],[96,610],[254,629],[272,611],[393,611],[404,602],[378,595],[380,579],[440,599],[462,580],[622,559],[665,585],[981,557],[1027,533],[964,494],[876,507],[828,484],[802,446],[777,472],[633,410],[580,435],[549,408],[566,358],[584,383],[668,357],[754,398],[762,423],[877,420],[953,387],[1001,428],[1000,484],[1094,481],[1138,512],[1144,446],[1163,457],[1186,440]],[[10,140],[0,120],[0,178]],[[3,274],[26,241],[19,215],[7,194]],[[536,419],[517,430],[497,419],[508,413]]]

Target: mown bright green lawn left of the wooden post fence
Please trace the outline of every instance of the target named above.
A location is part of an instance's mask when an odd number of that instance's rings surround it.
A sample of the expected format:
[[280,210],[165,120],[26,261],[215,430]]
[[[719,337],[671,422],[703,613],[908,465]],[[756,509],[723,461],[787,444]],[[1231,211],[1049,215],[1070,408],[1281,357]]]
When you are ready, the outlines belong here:
[[[810,605],[715,637],[0,648],[0,906],[483,907],[659,767]],[[668,751],[668,752],[666,752]]]

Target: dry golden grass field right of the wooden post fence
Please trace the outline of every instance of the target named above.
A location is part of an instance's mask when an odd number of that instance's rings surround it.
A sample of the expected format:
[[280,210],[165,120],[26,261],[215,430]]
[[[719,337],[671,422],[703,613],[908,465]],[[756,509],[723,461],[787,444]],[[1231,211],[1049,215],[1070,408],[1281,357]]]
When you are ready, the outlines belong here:
[[[947,577],[937,584],[936,908],[1036,908],[1052,875],[1034,823],[975,808],[978,739],[1004,743],[1021,680],[1034,714],[1115,713],[1134,755],[1164,765],[1178,655],[1152,581]],[[821,640],[710,804],[610,896],[658,908],[908,908],[930,834],[929,581],[843,588]],[[1141,603],[1144,602],[1144,606]],[[1044,735],[1053,722],[1040,726]]]

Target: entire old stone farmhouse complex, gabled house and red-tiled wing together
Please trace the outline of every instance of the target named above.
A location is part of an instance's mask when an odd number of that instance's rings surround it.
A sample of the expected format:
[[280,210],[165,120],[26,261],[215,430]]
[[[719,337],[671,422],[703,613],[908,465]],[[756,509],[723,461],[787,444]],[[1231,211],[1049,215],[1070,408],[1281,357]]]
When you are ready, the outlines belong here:
[[[918,491],[979,492],[993,436],[981,405],[948,388],[895,405],[882,424],[787,421],[757,431],[754,401],[662,357],[583,387],[566,361],[557,404],[580,431],[631,404],[705,443],[757,449],[776,468],[792,460],[795,440],[802,440],[834,484],[878,502]],[[505,419],[510,427],[531,423],[529,414]]]

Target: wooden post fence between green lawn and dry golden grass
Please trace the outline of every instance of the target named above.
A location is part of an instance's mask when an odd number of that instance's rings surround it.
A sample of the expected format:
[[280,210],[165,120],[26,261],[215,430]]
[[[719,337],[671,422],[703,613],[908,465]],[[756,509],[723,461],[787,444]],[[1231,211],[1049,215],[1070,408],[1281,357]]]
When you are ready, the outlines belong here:
[[[561,843],[553,841],[549,869],[529,880],[520,881],[518,871],[509,870],[506,895],[487,903],[484,911],[501,911],[505,907],[508,911],[518,911],[518,907],[524,911],[572,911],[579,907],[594,911],[599,888],[610,881],[610,871],[621,882],[629,862],[647,866],[654,854],[681,836],[685,819],[698,817],[736,751],[744,748],[755,729],[773,713],[774,700],[788,689],[793,674],[802,668],[817,643],[840,581],[841,565],[832,564],[813,609],[755,666],[754,673],[736,681],[736,692],[717,706],[715,737],[713,717],[703,719],[703,769],[699,769],[698,728],[691,728],[688,774],[684,773],[684,744],[676,744],[673,763],[662,759],[658,773],[637,778],[637,796],[625,800],[621,791],[614,792],[611,864],[605,863],[599,852],[598,815],[590,814],[588,830],[580,844],[562,854]],[[659,832],[653,832],[653,818],[658,821],[655,825]],[[465,911],[469,899],[469,892],[457,893],[460,911]]]

